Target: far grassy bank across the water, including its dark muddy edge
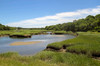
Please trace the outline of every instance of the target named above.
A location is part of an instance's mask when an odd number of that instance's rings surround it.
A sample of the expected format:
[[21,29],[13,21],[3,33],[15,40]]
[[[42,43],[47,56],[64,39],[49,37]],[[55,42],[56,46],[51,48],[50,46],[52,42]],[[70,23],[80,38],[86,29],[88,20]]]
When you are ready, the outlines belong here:
[[32,35],[47,34],[47,32],[52,32],[52,34],[72,34],[73,32],[69,31],[48,31],[48,30],[9,30],[9,31],[0,31],[0,37],[10,36],[12,38],[31,38]]

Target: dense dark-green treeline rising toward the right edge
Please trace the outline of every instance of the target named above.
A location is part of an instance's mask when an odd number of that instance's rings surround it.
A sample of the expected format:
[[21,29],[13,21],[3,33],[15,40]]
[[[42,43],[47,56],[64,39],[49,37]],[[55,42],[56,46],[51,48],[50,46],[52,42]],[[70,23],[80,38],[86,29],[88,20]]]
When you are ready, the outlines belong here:
[[73,22],[46,26],[47,30],[65,31],[100,31],[100,14],[89,15],[84,19],[74,20]]

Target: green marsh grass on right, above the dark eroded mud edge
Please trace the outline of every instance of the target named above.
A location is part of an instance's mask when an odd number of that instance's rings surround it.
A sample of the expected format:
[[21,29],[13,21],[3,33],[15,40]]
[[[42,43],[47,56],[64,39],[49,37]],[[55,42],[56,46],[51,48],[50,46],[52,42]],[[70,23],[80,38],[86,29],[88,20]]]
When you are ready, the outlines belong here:
[[47,47],[61,49],[63,46],[66,46],[67,52],[83,53],[88,56],[100,56],[100,33],[79,32],[79,36],[74,39],[52,43]]

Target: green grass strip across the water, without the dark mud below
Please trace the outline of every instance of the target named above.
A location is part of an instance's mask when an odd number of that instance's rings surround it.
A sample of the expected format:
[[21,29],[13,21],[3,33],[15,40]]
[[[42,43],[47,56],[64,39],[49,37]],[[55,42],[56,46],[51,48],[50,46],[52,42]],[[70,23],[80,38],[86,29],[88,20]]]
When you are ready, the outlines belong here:
[[3,35],[38,35],[52,32],[53,34],[72,34],[71,31],[53,31],[53,30],[4,30],[0,31],[0,36]]

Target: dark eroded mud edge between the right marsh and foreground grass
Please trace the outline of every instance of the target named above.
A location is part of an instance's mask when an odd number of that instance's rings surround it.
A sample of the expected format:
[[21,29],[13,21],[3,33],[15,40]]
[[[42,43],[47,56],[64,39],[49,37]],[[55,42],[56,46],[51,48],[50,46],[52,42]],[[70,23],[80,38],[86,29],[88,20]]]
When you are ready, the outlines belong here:
[[84,55],[87,55],[88,57],[100,60],[100,52],[98,52],[98,53],[93,52],[90,55],[88,52],[86,52],[84,50],[82,50],[82,51],[68,50],[67,47],[70,47],[70,46],[74,46],[74,45],[63,45],[61,48],[54,47],[54,46],[47,46],[45,50],[56,51],[56,52],[69,52],[69,53],[73,53],[73,54],[84,54]]

